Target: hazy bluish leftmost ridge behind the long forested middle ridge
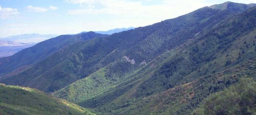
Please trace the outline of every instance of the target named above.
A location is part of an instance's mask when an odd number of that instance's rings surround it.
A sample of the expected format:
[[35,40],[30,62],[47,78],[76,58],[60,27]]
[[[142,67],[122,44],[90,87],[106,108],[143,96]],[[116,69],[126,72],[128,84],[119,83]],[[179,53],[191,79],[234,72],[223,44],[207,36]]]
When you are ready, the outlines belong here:
[[97,34],[94,32],[82,33],[77,35],[61,35],[43,42],[33,47],[29,47],[10,56],[0,58],[0,76],[3,76],[17,68],[29,66],[45,57],[48,57],[62,47],[76,43],[77,41],[85,41],[96,37],[106,37],[107,35]]

